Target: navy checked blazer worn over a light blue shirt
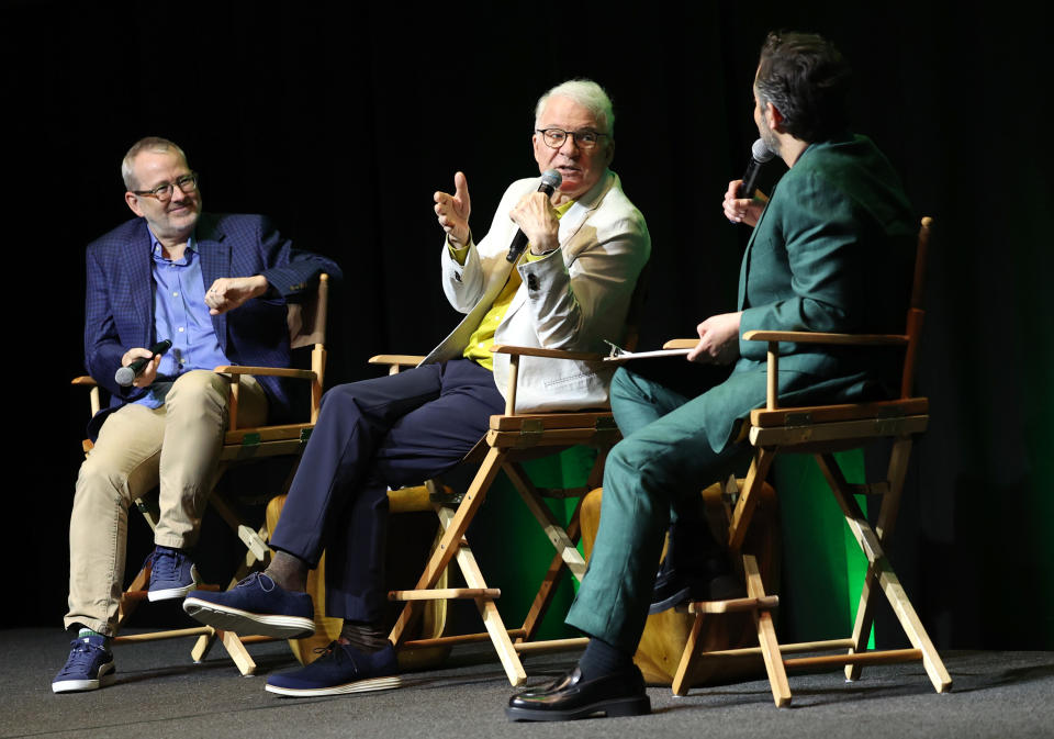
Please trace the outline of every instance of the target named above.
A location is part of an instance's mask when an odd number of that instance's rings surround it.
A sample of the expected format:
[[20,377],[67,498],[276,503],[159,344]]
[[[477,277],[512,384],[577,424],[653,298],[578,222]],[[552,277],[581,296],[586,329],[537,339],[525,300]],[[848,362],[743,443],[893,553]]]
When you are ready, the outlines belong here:
[[[203,213],[194,231],[205,289],[222,277],[262,275],[271,289],[244,305],[212,316],[220,348],[233,365],[288,367],[290,362],[287,301],[314,289],[326,272],[339,279],[329,259],[292,247],[262,215]],[[110,391],[110,407],[89,425],[94,438],[105,416],[142,396],[141,388],[122,388],[113,380],[121,358],[132,347],[147,347],[154,336],[154,280],[150,235],[144,219],[133,219],[88,245],[85,298],[85,366]],[[268,398],[272,423],[290,417],[290,398],[281,378],[257,381]]]

